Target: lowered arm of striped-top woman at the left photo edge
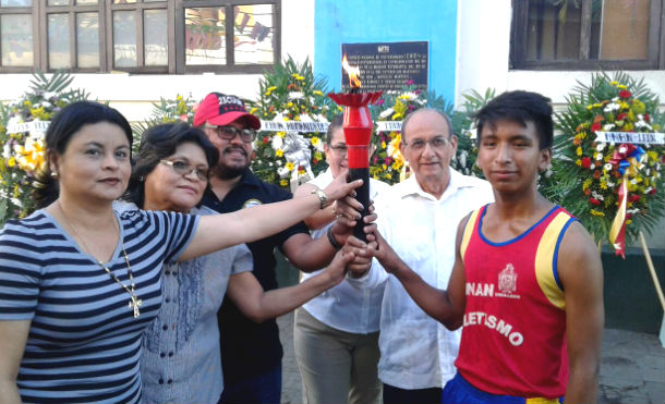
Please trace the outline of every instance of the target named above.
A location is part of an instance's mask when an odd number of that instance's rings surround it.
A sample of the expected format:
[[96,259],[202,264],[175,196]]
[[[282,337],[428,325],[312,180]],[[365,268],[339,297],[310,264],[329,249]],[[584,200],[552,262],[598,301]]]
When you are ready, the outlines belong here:
[[0,321],[0,402],[2,403],[21,403],[16,376],[29,328],[29,320]]

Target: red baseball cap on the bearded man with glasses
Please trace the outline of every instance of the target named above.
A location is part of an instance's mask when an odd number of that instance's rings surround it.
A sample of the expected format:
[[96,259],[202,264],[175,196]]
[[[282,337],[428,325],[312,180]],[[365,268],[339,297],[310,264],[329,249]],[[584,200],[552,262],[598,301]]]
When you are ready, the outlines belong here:
[[244,120],[254,130],[261,127],[258,118],[249,113],[244,102],[235,96],[210,93],[194,112],[194,126],[201,126],[206,122],[223,126],[238,120]]

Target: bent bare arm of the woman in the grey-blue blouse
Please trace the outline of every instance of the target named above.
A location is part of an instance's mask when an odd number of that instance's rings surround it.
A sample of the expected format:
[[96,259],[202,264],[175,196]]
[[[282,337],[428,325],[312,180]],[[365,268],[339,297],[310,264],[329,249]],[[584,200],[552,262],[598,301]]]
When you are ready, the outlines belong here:
[[228,294],[240,310],[255,322],[281,316],[337,285],[344,279],[346,266],[353,253],[339,250],[322,273],[294,286],[264,292],[252,272],[241,272],[229,280]]

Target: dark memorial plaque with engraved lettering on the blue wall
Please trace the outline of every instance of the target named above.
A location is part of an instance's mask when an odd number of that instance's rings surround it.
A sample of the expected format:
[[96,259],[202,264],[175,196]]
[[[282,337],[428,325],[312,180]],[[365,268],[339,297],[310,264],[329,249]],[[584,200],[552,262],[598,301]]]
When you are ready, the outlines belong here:
[[[349,64],[360,68],[363,93],[400,90],[408,81],[427,90],[428,42],[342,44]],[[341,74],[341,88],[349,90],[349,77]]]

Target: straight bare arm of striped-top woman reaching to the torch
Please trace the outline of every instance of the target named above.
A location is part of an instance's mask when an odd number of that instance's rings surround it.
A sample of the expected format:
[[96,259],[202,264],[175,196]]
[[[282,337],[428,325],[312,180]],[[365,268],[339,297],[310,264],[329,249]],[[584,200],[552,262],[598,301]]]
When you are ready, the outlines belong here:
[[[349,195],[361,184],[360,180],[347,184],[343,177],[339,177],[326,186],[324,193],[330,203]],[[319,209],[318,196],[307,194],[232,213],[202,217],[194,238],[178,260],[185,261],[231,245],[264,238],[298,223]]]

